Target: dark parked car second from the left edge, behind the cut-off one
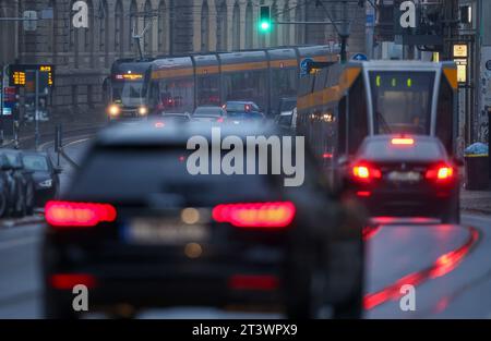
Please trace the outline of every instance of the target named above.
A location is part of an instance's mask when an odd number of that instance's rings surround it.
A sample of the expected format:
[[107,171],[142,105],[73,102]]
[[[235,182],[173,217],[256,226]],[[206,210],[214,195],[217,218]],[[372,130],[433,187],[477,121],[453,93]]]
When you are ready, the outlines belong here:
[[16,217],[32,215],[34,212],[35,204],[33,172],[24,167],[21,150],[1,149],[0,154],[8,158],[11,166],[10,173],[15,179],[15,185],[17,186],[17,194],[12,214]]

